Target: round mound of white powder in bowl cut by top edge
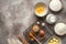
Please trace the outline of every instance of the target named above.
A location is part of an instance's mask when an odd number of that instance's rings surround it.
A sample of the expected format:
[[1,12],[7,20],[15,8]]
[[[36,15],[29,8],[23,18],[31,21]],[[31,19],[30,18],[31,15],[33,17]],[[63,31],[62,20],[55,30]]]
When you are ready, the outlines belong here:
[[50,9],[53,11],[59,11],[62,9],[62,2],[59,0],[52,0],[50,2]]

